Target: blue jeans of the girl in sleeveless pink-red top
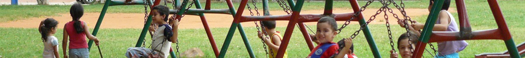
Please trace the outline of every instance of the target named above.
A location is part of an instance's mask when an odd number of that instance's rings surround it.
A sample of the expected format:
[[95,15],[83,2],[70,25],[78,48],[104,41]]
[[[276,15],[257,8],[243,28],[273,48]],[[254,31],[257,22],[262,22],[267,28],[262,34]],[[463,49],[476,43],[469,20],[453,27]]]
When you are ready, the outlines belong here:
[[88,48],[69,49],[69,58],[89,58]]

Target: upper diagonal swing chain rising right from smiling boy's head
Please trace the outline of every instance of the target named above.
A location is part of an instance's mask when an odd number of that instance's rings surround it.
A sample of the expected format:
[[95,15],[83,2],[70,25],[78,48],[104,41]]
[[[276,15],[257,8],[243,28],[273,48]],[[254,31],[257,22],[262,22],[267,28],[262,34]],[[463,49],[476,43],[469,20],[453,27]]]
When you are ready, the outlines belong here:
[[[369,6],[370,4],[372,4],[372,2],[374,2],[373,0],[369,0],[368,2],[366,2],[366,4],[360,8],[359,11],[355,12],[355,14],[353,15],[352,18],[350,18],[350,20],[346,20],[344,22],[344,24],[341,26],[341,28],[337,29],[339,32],[338,33],[341,33],[341,31],[343,30],[343,28],[345,28],[346,26],[350,25],[350,21],[354,20],[356,17],[358,17],[358,15],[361,14],[362,11],[364,11],[366,9],[367,6]],[[355,33],[354,33],[355,34]],[[353,39],[353,38],[352,38]]]

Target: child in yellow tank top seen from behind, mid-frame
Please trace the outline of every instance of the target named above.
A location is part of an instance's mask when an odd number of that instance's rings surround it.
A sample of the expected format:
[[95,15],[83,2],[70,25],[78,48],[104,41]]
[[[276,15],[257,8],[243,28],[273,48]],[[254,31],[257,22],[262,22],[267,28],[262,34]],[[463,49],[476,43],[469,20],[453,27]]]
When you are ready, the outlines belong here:
[[[279,31],[275,30],[276,22],[275,20],[271,21],[262,21],[261,26],[264,27],[265,30],[262,30],[262,32],[265,32],[265,34],[258,33],[258,36],[260,39],[264,40],[265,44],[268,45],[268,52],[273,52],[273,55],[268,54],[268,57],[274,58],[277,56],[277,51],[279,50],[279,46],[281,45],[282,36]],[[264,37],[264,35],[270,35],[270,38]],[[288,57],[288,53],[285,52],[285,54],[282,56],[283,58]]]

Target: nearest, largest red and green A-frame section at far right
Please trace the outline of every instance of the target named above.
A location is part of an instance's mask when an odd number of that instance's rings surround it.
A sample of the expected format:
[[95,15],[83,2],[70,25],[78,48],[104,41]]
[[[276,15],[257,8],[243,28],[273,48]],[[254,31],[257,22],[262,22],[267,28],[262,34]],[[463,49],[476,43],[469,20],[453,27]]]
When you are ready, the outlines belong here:
[[[512,58],[521,58],[518,49],[512,40],[509,29],[505,22],[505,18],[501,13],[498,2],[496,0],[487,0],[492,11],[492,15],[498,25],[497,29],[472,31],[468,21],[467,10],[464,0],[456,0],[456,7],[459,15],[459,32],[440,32],[432,31],[439,14],[439,9],[442,8],[444,1],[435,1],[434,7],[430,10],[425,27],[416,44],[412,58],[420,58],[423,55],[427,43],[455,41],[455,40],[503,40],[508,49],[508,53]],[[439,39],[437,39],[439,38]],[[521,48],[521,47],[520,47]],[[490,57],[490,56],[489,56]]]

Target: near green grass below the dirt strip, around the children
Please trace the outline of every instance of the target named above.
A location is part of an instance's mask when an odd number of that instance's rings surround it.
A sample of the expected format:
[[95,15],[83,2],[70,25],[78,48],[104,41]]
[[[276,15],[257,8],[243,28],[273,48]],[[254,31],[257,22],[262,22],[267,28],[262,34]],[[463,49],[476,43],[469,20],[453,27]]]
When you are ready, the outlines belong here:
[[[340,40],[341,38],[349,37],[349,34],[358,29],[358,25],[351,25],[343,30],[334,41]],[[369,25],[372,31],[374,40],[376,42],[377,48],[383,57],[389,55],[391,49],[389,41],[386,34],[386,28],[384,25]],[[315,27],[315,26],[311,26]],[[523,27],[510,27],[510,30],[513,34],[513,38],[516,44],[524,42],[525,39],[525,30]],[[284,31],[285,27],[278,27],[278,31]],[[474,28],[474,29],[484,29],[484,28]],[[0,52],[10,52],[10,53],[0,53],[0,55],[5,57],[40,57],[43,49],[43,44],[40,40],[40,36],[36,31],[36,28],[0,28],[0,32],[6,33],[0,35],[0,42],[3,42],[3,47],[0,47]],[[219,49],[222,47],[228,28],[212,28],[213,36],[217,43]],[[405,32],[403,28],[398,27],[397,25],[392,26],[393,39],[397,39],[401,33]],[[402,30],[402,31],[398,31]],[[58,29],[61,31],[61,29]],[[248,40],[253,48],[255,55],[257,57],[264,57],[264,50],[262,49],[262,44],[260,39],[256,38],[256,29],[254,27],[245,28],[246,35]],[[101,40],[101,49],[102,54],[105,57],[124,57],[125,50],[129,47],[134,47],[135,43],[138,40],[140,29],[101,29],[98,33],[98,38]],[[60,45],[62,44],[61,32],[56,33],[55,36],[59,38]],[[150,45],[151,39],[146,36],[146,45]],[[205,57],[214,57],[213,50],[209,44],[209,41],[206,37],[204,29],[182,29],[180,31],[180,51],[184,52],[190,48],[199,48],[205,53]],[[366,43],[366,40],[363,34],[354,39],[355,53],[359,57],[370,58],[373,57],[372,52],[369,48],[369,45]],[[394,41],[395,42],[395,41]],[[460,52],[461,57],[473,57],[474,54],[487,53],[487,52],[502,52],[506,51],[505,44],[502,40],[470,40],[467,41],[469,46],[465,51]],[[175,44],[172,44],[175,47]],[[291,37],[291,40],[288,45],[288,56],[289,57],[306,57],[309,54],[309,49],[302,37],[300,31],[296,29]],[[427,49],[430,49],[427,47]],[[90,51],[91,57],[99,57],[99,52],[96,47],[93,47]],[[61,46],[59,51],[62,51]],[[433,52],[433,51],[431,51]],[[62,52],[60,52],[62,54]],[[429,57],[427,53],[424,54],[425,57]],[[226,57],[249,57],[246,51],[246,47],[243,44],[243,41],[240,38],[238,32],[234,34],[232,44],[228,48]]]

